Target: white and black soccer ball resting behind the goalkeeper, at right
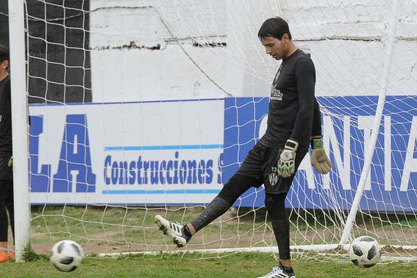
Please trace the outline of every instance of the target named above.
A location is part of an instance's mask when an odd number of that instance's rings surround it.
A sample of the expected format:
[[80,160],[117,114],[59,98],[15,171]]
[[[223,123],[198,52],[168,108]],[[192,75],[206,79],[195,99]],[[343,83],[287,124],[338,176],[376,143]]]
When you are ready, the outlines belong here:
[[349,248],[349,258],[354,265],[370,268],[381,259],[381,247],[375,238],[359,236],[355,238]]

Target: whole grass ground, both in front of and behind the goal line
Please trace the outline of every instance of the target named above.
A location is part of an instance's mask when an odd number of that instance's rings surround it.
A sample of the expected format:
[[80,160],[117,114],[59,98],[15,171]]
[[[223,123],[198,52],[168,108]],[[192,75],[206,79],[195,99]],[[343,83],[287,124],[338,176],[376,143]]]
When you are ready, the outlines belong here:
[[[99,253],[177,250],[158,231],[154,215],[162,214],[178,222],[187,222],[202,211],[194,208],[124,208],[111,206],[39,206],[31,213],[31,247],[38,256],[26,263],[0,264],[3,277],[258,277],[277,265],[268,253],[238,254],[163,254],[131,255],[119,259],[99,258]],[[275,246],[265,211],[240,209],[222,215],[187,245],[187,250],[227,247]],[[341,225],[328,213],[304,211],[291,216],[291,244],[309,245],[338,243]],[[395,223],[395,224],[394,224]],[[361,215],[357,218],[355,236],[377,235],[382,244],[417,245],[415,218],[389,220]],[[58,272],[47,260],[52,245],[63,239],[77,241],[88,254],[81,268],[71,273]],[[416,251],[384,251],[393,256],[414,256]],[[391,255],[391,254],[390,254]],[[210,258],[214,256],[214,258]],[[345,251],[332,254],[293,253],[297,277],[417,277],[417,264],[379,263],[361,269],[343,259]]]

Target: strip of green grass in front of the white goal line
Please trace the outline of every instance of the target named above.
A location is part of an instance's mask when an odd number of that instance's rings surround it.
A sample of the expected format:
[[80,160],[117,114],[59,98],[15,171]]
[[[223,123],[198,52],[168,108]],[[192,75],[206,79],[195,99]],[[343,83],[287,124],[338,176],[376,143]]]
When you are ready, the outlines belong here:
[[[3,263],[0,277],[258,277],[269,272],[276,265],[271,254],[240,253],[221,259],[199,259],[200,254],[179,254],[163,256],[124,256],[119,259],[89,258],[81,268],[63,273],[56,270],[49,261],[30,263]],[[363,269],[350,262],[295,261],[297,278],[411,278],[417,277],[417,264],[378,264]]]

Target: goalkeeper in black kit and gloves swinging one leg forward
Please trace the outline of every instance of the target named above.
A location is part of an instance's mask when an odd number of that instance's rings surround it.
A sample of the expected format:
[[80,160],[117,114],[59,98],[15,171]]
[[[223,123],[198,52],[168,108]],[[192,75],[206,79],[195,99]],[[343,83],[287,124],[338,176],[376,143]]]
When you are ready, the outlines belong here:
[[321,174],[333,167],[322,147],[320,107],[314,97],[316,70],[313,61],[291,41],[288,24],[280,17],[267,19],[258,37],[266,54],[281,60],[272,82],[265,135],[250,150],[245,161],[213,201],[193,222],[184,226],[161,215],[155,220],[178,247],[197,231],[225,213],[252,186],[265,186],[265,207],[272,222],[279,250],[279,265],[265,278],[295,277],[290,256],[290,222],[285,198],[295,172],[309,150],[311,164]]

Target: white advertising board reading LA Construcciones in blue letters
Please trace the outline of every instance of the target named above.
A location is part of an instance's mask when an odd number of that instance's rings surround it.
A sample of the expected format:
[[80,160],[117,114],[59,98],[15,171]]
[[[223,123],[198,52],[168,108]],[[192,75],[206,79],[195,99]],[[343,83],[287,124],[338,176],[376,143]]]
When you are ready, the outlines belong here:
[[31,202],[210,202],[223,110],[223,99],[31,106]]

